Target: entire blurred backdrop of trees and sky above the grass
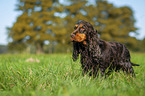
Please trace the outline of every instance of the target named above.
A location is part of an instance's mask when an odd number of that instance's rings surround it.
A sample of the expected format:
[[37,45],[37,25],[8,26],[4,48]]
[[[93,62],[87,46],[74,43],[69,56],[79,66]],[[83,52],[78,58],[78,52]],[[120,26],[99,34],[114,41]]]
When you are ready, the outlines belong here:
[[106,41],[145,51],[144,0],[3,0],[0,54],[69,53],[78,20],[90,22]]

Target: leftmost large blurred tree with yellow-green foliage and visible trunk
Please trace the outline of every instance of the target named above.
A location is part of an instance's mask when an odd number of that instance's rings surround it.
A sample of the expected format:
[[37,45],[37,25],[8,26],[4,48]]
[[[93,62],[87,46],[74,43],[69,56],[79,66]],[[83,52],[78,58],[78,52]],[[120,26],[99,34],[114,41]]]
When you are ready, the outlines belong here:
[[61,10],[58,0],[19,0],[17,10],[22,15],[9,32],[11,44],[26,42],[36,47],[36,53],[43,53],[44,42],[56,39],[53,30],[57,29],[59,17],[54,14]]

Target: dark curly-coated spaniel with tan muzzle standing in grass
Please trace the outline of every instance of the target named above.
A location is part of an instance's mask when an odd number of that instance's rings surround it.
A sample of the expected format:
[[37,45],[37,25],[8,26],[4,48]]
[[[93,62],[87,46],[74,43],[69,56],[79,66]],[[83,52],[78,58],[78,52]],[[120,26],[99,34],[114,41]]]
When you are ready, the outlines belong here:
[[71,33],[73,42],[73,60],[81,54],[83,74],[89,72],[90,76],[97,76],[100,70],[101,76],[112,70],[123,70],[127,74],[135,76],[132,66],[139,66],[130,61],[128,49],[121,43],[106,42],[98,38],[97,31],[86,21],[80,20]]

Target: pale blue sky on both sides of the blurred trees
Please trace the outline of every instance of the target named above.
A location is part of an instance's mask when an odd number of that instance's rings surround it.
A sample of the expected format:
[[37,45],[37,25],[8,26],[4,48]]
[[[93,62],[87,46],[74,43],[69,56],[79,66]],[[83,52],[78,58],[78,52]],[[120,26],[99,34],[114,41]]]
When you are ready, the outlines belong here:
[[[61,0],[63,1],[63,0]],[[136,19],[135,26],[139,28],[137,31],[140,35],[137,39],[145,37],[145,0],[108,0],[117,7],[129,6],[134,11]],[[20,14],[16,9],[17,0],[1,0],[0,2],[0,45],[6,45],[7,31],[6,27],[11,27]]]

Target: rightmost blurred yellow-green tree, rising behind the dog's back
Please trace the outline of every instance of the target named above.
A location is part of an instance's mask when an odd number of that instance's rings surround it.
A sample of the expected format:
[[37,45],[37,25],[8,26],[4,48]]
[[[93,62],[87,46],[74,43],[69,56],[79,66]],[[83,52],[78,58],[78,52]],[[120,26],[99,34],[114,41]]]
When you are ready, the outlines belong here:
[[86,8],[90,22],[107,41],[118,41],[129,47],[137,44],[137,40],[129,34],[137,35],[133,11],[129,7],[115,7],[104,0],[95,0],[95,6]]

